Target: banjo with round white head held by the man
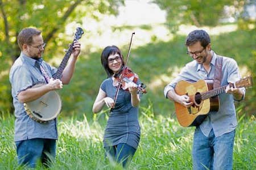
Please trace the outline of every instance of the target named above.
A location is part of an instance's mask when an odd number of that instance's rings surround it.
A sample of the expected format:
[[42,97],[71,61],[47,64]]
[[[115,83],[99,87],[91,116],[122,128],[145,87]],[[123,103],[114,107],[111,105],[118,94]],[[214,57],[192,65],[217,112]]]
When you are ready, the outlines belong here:
[[[66,51],[66,54],[63,60],[60,63],[59,69],[53,75],[53,79],[61,79],[63,70],[65,66],[67,66],[68,59],[73,52],[73,43],[75,40],[79,40],[84,31],[82,28],[76,28],[75,39],[72,42],[72,45],[69,46],[69,49]],[[32,88],[44,86],[45,84],[35,84]],[[54,120],[57,116],[59,116],[62,107],[61,97],[57,90],[49,91],[47,94],[39,97],[34,101],[30,101],[28,103],[24,103],[24,109],[27,112],[28,116],[30,116],[33,120],[39,123],[47,123]]]

